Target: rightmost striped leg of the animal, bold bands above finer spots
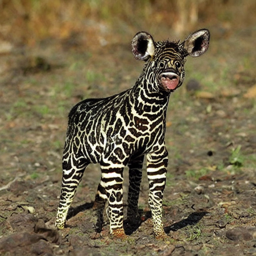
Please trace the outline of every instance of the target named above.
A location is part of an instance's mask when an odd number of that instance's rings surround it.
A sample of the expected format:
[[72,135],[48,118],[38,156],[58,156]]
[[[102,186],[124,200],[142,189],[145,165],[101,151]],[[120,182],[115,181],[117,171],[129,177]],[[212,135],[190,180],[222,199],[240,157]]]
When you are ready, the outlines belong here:
[[164,238],[167,236],[162,224],[162,200],[167,165],[168,152],[165,146],[147,155],[147,175],[149,181],[148,203],[152,212],[153,230],[156,238]]

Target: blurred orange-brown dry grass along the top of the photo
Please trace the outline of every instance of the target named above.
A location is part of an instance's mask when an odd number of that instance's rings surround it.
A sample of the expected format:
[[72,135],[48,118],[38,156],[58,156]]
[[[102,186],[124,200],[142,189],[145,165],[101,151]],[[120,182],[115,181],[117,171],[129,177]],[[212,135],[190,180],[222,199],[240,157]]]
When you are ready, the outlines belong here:
[[205,22],[239,26],[251,23],[255,10],[253,0],[0,0],[0,39],[33,46],[82,35],[82,44],[104,45],[115,41],[113,34],[134,30],[168,26],[183,32]]

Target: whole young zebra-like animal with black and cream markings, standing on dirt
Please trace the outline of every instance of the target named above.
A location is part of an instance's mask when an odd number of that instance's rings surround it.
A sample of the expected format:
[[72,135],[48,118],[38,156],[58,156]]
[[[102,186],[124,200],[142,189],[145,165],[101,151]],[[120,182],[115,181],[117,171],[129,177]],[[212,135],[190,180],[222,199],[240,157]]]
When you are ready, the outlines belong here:
[[165,130],[169,96],[183,83],[186,57],[202,55],[208,49],[209,39],[207,29],[191,33],[183,42],[155,42],[149,33],[138,32],[132,40],[132,53],[145,65],[135,85],[107,98],[85,99],[71,109],[62,158],[57,228],[65,226],[68,209],[86,166],[99,163],[101,180],[93,205],[98,216],[96,230],[101,231],[108,202],[110,234],[125,238],[123,170],[128,165],[127,219],[132,221],[138,217],[146,155],[153,233],[157,239],[167,236],[162,224],[162,200],[168,165]]

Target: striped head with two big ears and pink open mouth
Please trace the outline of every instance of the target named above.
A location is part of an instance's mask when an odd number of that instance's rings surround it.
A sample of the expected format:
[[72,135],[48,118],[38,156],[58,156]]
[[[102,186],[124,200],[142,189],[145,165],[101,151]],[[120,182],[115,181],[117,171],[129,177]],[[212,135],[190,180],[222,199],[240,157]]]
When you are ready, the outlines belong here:
[[182,85],[185,77],[184,64],[188,55],[198,57],[208,48],[210,32],[200,29],[185,41],[169,40],[155,42],[147,32],[138,32],[132,40],[132,53],[145,61],[140,78],[150,90],[170,93]]

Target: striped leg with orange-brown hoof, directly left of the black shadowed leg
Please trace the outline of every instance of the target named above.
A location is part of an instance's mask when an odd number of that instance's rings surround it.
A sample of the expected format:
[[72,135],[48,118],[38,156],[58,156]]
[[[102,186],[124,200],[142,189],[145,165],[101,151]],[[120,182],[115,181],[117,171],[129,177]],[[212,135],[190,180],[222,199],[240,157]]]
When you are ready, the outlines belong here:
[[109,168],[101,166],[100,185],[106,190],[110,234],[117,238],[126,237],[123,228],[123,170],[123,167]]

